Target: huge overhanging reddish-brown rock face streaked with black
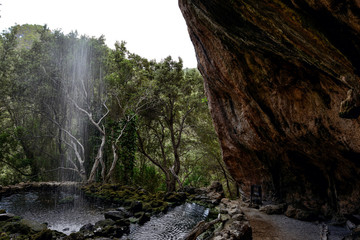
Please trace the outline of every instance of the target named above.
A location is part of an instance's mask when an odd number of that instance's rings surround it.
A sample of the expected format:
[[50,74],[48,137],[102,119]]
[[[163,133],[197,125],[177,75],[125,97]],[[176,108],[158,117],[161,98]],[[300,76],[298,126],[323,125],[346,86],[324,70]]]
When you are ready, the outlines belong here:
[[323,214],[360,206],[360,1],[179,0],[223,159]]

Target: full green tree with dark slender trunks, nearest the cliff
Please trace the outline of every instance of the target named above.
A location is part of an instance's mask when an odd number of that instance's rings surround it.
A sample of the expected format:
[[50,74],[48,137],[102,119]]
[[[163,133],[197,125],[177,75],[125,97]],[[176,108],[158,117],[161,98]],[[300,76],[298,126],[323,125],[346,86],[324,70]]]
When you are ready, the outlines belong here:
[[199,78],[184,75],[181,59],[171,57],[157,64],[154,82],[157,104],[143,115],[139,151],[162,171],[170,192],[176,190],[177,182],[182,184],[182,158],[192,140],[187,121],[196,114],[203,90]]

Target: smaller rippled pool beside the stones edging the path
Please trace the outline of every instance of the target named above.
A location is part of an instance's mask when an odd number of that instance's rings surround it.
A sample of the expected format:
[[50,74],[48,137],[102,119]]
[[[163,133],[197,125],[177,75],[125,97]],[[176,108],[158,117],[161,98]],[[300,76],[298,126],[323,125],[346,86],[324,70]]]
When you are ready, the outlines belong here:
[[183,239],[200,221],[205,220],[209,209],[194,203],[178,206],[168,213],[152,217],[143,226],[132,227],[131,233],[122,239],[175,240]]

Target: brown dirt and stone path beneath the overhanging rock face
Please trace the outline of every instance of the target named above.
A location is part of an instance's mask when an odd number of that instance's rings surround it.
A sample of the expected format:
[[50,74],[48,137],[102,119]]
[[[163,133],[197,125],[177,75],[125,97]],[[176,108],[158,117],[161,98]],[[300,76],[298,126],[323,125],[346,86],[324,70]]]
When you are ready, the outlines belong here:
[[[267,205],[257,208],[239,202],[252,228],[253,240],[357,240],[356,218],[302,221],[287,215],[294,210],[286,205]],[[288,209],[285,211],[285,209]],[[299,212],[299,216],[308,216]],[[289,216],[294,217],[293,214]]]

